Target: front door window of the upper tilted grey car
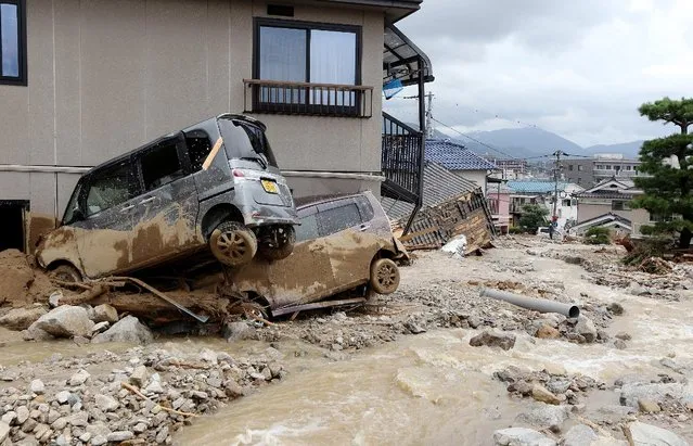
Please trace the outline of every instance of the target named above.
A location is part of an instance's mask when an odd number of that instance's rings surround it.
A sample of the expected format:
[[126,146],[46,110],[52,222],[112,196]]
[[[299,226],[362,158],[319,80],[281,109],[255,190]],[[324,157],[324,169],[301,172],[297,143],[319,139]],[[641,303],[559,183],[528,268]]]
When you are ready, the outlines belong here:
[[137,194],[131,169],[130,163],[120,163],[94,174],[87,192],[87,216],[125,203]]

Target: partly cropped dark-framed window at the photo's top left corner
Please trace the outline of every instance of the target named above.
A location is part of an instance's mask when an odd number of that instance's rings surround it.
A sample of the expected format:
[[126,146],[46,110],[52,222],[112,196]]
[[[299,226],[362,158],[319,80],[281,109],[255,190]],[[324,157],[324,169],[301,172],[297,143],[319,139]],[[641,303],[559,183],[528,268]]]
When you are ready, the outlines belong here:
[[26,85],[24,0],[0,0],[0,84]]

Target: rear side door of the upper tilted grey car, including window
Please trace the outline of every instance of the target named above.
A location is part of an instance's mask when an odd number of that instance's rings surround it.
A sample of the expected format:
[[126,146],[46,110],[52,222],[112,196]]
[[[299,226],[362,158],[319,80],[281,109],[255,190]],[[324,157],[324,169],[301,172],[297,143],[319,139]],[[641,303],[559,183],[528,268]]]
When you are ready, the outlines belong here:
[[182,132],[133,155],[142,195],[136,203],[132,264],[174,258],[201,244],[198,202]]

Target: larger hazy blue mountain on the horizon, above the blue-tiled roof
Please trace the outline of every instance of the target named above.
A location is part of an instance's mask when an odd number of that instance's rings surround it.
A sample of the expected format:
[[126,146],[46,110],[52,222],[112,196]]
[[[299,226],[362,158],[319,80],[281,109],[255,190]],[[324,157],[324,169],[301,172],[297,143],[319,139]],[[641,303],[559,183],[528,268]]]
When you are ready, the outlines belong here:
[[470,132],[469,137],[471,138],[455,136],[453,139],[466,145],[467,149],[488,156],[530,158],[549,155],[556,150],[588,155],[585,149],[575,142],[551,131],[534,127],[474,131]]

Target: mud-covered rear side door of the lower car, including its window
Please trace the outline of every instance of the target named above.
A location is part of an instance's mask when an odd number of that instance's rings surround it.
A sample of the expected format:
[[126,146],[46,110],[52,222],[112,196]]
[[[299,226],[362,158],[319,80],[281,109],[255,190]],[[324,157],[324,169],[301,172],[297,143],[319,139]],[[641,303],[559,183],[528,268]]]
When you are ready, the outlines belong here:
[[361,216],[357,200],[358,196],[349,197],[319,207],[321,230],[331,234],[325,238],[325,245],[336,291],[367,281],[377,252],[377,238],[368,233],[369,220]]

